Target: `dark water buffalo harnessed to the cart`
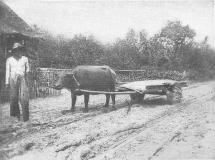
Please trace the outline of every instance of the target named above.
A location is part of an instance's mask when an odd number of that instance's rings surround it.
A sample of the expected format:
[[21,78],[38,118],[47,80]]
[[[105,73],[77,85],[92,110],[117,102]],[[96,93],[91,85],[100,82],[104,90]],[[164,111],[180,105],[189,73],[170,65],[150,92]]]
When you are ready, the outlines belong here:
[[[88,111],[89,93],[77,91],[77,89],[92,91],[114,91],[116,83],[116,73],[109,66],[77,66],[72,73],[64,73],[54,84],[53,88],[66,88],[71,91],[72,106],[75,110],[76,96],[84,94],[85,111]],[[115,95],[111,94],[113,108],[115,105]],[[110,94],[106,94],[105,107],[109,106]]]

